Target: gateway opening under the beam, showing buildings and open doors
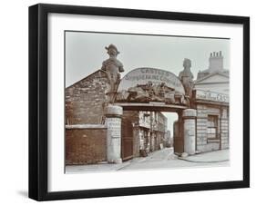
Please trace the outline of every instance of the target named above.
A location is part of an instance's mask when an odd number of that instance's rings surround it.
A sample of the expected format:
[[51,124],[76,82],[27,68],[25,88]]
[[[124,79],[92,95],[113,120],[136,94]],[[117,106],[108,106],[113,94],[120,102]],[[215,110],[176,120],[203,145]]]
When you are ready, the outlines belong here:
[[[127,161],[134,157],[146,157],[154,151],[162,149],[169,153],[183,152],[183,137],[180,135],[182,124],[176,131],[174,123],[182,123],[179,112],[164,107],[128,107],[123,105],[121,125],[121,158]],[[178,132],[179,143],[174,135]],[[174,148],[175,145],[179,148]]]

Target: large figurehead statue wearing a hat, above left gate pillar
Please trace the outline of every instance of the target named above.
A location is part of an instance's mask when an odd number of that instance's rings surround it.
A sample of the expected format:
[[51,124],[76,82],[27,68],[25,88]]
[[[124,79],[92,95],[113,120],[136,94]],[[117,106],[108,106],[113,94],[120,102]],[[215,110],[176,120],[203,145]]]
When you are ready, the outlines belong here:
[[110,84],[110,90],[107,93],[108,102],[114,102],[118,91],[118,84],[120,83],[120,73],[124,72],[124,68],[123,64],[117,59],[120,53],[116,45],[109,44],[105,48],[108,51],[109,58],[102,63],[101,69],[108,74],[108,82]]

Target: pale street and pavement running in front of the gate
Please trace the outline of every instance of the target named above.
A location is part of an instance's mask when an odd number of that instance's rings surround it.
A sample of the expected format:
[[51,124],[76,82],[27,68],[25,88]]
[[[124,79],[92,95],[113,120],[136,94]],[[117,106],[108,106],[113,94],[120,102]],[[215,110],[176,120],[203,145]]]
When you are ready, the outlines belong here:
[[138,157],[119,164],[101,162],[89,165],[68,165],[66,173],[229,166],[229,155],[229,150],[222,150],[182,158],[174,154],[173,148],[164,148],[149,153],[147,157]]

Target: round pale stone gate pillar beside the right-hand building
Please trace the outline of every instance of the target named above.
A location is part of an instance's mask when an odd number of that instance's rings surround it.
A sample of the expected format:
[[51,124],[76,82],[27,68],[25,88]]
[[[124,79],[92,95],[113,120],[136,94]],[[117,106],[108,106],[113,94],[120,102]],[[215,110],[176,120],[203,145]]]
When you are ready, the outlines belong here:
[[194,109],[187,109],[182,113],[184,122],[184,152],[190,155],[196,153],[196,117],[197,111]]

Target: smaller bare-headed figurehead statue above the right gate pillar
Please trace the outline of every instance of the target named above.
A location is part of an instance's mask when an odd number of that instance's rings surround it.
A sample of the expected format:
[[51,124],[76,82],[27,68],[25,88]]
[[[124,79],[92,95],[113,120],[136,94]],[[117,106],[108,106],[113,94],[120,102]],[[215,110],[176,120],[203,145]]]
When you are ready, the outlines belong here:
[[189,97],[189,99],[191,99],[192,90],[194,86],[194,83],[193,83],[194,76],[193,76],[193,73],[191,73],[190,71],[191,61],[188,58],[184,59],[183,67],[184,67],[183,71],[179,73],[179,80],[184,86],[186,96]]

